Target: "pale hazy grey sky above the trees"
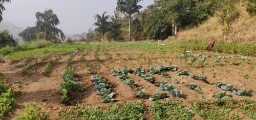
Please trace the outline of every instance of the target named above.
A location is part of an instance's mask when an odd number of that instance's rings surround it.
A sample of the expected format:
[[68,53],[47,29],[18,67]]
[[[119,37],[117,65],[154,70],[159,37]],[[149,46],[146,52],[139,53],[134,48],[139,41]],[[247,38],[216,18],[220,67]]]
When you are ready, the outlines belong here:
[[[152,5],[154,0],[144,0],[139,5],[146,8]],[[66,35],[81,34],[87,32],[89,27],[94,28],[94,15],[113,15],[116,8],[116,0],[11,0],[4,4],[2,22],[11,22],[16,26],[27,28],[35,26],[36,12],[44,12],[52,9],[58,16],[60,24],[57,26]]]

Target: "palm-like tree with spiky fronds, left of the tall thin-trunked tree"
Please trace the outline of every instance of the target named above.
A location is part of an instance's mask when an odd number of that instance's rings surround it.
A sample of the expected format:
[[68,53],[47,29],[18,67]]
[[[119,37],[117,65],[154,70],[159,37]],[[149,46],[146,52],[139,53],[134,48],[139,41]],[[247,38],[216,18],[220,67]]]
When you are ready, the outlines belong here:
[[102,16],[100,16],[99,14],[96,14],[94,16],[94,18],[96,20],[94,25],[97,26],[95,28],[95,31],[97,31],[100,34],[102,34],[103,42],[105,42],[105,34],[106,34],[106,32],[108,32],[109,25],[110,25],[110,22],[109,22],[110,16],[109,15],[105,15],[105,14],[106,14],[106,12],[104,12],[102,14]]

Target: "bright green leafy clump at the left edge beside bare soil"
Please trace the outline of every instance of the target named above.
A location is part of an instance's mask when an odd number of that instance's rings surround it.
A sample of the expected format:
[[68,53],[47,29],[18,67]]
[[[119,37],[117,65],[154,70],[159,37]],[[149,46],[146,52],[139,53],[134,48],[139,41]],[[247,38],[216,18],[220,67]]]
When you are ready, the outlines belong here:
[[0,75],[0,116],[3,116],[11,111],[15,105],[13,91],[4,83],[4,76]]

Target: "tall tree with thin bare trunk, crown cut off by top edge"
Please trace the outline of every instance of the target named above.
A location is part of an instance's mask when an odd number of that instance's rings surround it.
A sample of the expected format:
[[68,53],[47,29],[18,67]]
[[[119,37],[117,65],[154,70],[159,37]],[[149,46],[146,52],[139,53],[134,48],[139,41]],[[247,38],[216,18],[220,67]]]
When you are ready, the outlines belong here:
[[129,40],[131,41],[131,20],[134,13],[138,13],[142,6],[138,3],[142,0],[117,0],[117,10],[129,16]]

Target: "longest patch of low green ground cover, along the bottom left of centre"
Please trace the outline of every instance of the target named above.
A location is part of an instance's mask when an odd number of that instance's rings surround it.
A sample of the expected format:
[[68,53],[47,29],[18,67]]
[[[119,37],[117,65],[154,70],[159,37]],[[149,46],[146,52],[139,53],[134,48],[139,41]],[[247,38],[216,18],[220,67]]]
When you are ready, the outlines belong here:
[[60,119],[143,119],[146,112],[142,102],[114,104],[111,108],[82,108],[69,109],[60,114]]

